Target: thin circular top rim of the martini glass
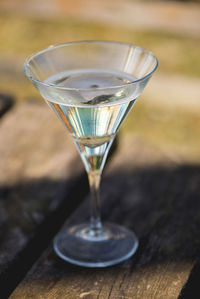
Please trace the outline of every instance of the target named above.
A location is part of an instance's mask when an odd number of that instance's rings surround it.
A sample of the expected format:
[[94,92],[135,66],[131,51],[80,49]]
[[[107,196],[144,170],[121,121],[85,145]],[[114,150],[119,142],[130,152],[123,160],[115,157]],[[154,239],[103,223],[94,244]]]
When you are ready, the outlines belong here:
[[38,80],[36,78],[34,78],[27,70],[27,66],[29,64],[29,62],[31,61],[31,59],[33,59],[34,57],[42,54],[42,53],[45,53],[45,52],[48,52],[48,51],[51,51],[51,50],[55,50],[57,48],[61,48],[61,47],[66,47],[66,46],[71,46],[71,45],[81,45],[81,44],[116,44],[116,45],[124,45],[124,46],[129,46],[129,47],[133,47],[133,48],[138,48],[138,49],[141,49],[143,50],[143,52],[145,53],[149,53],[152,55],[152,57],[155,59],[155,66],[153,68],[153,70],[151,72],[149,72],[146,76],[140,78],[140,79],[136,79],[132,82],[127,82],[127,83],[124,83],[124,84],[121,84],[121,85],[115,85],[115,86],[105,86],[105,87],[96,87],[95,90],[98,91],[98,90],[109,90],[109,89],[116,89],[116,88],[123,88],[123,87],[127,87],[127,86],[130,86],[130,85],[133,85],[133,84],[136,84],[138,82],[142,82],[148,78],[150,78],[152,76],[152,74],[156,71],[157,67],[158,67],[158,59],[157,57],[149,50],[146,50],[145,48],[143,47],[140,47],[140,46],[137,46],[135,44],[131,44],[131,43],[126,43],[126,42],[118,42],[118,41],[103,41],[103,40],[82,40],[82,41],[72,41],[72,42],[66,42],[66,43],[59,43],[59,44],[55,44],[55,45],[50,45],[40,51],[36,51],[34,53],[32,53],[31,55],[29,55],[25,62],[24,62],[24,73],[26,74],[26,76],[31,79],[31,81],[35,82],[36,84],[39,84],[39,85],[42,85],[44,87],[53,87],[55,89],[59,89],[59,90],[68,90],[68,91],[94,91],[94,88],[92,87],[89,87],[89,88],[75,88],[75,87],[64,87],[64,86],[56,86],[52,83],[47,83],[47,82],[44,82],[44,81],[41,81],[41,80]]

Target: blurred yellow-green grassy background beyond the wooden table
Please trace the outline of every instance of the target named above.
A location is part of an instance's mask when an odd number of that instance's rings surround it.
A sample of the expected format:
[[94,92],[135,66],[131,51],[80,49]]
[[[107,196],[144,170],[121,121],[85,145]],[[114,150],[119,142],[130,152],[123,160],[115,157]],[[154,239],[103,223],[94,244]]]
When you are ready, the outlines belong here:
[[0,1],[0,93],[41,97],[25,58],[51,44],[116,40],[152,51],[159,68],[122,134],[159,146],[177,163],[200,161],[200,3],[134,0]]

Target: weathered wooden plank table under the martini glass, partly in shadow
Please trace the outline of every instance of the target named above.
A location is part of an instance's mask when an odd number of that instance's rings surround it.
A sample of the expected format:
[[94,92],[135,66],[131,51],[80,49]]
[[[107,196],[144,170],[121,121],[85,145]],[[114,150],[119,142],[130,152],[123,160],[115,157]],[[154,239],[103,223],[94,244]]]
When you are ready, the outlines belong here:
[[[3,114],[3,113],[2,113]],[[103,220],[134,229],[137,253],[87,269],[60,260],[52,239],[88,219],[88,184],[71,138],[44,104],[0,119],[0,298],[200,298],[200,168],[178,165],[121,134],[105,169]]]

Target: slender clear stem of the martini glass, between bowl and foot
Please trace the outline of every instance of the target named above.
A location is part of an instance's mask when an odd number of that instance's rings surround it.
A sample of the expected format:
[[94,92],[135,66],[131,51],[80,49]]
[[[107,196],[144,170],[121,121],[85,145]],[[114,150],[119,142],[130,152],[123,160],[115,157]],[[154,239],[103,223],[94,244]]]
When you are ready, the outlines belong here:
[[99,202],[99,185],[101,181],[101,171],[90,171],[88,173],[88,180],[91,195],[90,234],[92,236],[99,236],[102,233]]

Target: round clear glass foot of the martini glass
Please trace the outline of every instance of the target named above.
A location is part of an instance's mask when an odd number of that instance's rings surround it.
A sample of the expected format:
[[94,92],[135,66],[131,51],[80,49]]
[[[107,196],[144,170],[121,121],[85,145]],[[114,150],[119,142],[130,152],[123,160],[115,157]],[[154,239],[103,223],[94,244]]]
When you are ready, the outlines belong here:
[[54,250],[63,260],[85,267],[107,267],[132,256],[138,239],[127,228],[106,223],[91,231],[88,224],[65,228],[54,239]]

